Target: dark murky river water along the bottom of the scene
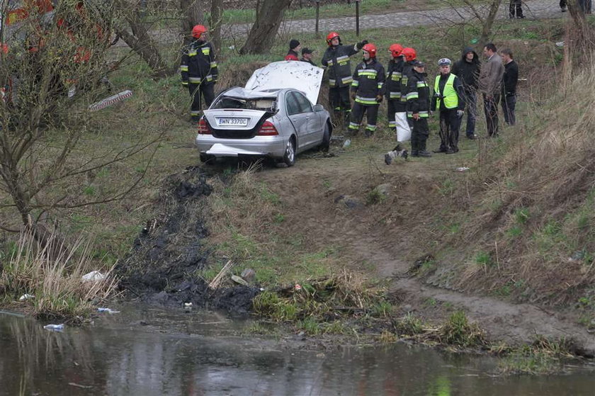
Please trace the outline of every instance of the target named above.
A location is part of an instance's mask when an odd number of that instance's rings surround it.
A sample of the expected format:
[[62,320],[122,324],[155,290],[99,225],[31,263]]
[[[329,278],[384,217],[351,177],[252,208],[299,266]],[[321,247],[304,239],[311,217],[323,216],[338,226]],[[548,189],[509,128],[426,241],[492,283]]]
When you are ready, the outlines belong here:
[[135,305],[50,332],[0,313],[0,395],[595,394],[587,367],[499,377],[492,358],[400,343],[312,351],[300,336],[232,335],[245,325],[213,312]]

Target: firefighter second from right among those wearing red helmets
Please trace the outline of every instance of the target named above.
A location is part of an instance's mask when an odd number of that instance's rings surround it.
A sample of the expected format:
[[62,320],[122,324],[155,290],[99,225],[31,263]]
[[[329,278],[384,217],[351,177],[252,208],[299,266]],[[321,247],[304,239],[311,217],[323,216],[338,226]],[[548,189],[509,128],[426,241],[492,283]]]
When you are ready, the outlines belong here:
[[[392,60],[388,62],[386,69],[386,99],[387,99],[387,120],[388,128],[397,132],[395,113],[402,113],[404,123],[407,123],[405,104],[401,103],[401,74],[403,72],[404,59],[402,55],[403,46],[393,44],[388,48]],[[409,125],[407,125],[409,128]]]

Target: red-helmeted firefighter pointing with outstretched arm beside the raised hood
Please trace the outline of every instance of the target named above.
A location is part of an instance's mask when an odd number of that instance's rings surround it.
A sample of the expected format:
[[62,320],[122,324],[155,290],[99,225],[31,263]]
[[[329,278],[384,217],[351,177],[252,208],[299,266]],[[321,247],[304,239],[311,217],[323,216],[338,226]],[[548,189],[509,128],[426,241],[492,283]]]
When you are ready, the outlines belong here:
[[327,35],[329,47],[322,55],[322,67],[328,67],[329,70],[329,104],[333,108],[335,120],[339,120],[341,113],[345,122],[349,119],[351,112],[349,85],[353,81],[349,57],[355,55],[366,44],[368,40],[363,40],[356,45],[341,45],[339,33],[331,32]]

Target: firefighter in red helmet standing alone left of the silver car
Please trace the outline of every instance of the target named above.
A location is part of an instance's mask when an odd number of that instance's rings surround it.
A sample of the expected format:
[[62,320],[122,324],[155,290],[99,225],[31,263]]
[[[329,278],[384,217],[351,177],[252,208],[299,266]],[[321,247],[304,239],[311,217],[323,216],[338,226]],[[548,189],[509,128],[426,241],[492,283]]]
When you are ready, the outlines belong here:
[[192,98],[190,114],[193,123],[198,123],[200,119],[200,95],[204,96],[207,107],[215,98],[217,62],[211,43],[204,40],[205,33],[207,28],[203,25],[192,28],[194,40],[183,48],[180,64],[182,84],[188,86]]

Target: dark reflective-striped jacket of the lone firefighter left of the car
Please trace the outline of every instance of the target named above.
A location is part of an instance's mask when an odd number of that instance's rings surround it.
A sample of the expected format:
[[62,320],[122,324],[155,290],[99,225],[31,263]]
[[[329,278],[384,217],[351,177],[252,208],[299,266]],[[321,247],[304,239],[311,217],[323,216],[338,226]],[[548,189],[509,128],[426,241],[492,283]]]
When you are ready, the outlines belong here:
[[182,50],[180,64],[182,84],[215,84],[217,82],[217,62],[211,43],[194,40]]

